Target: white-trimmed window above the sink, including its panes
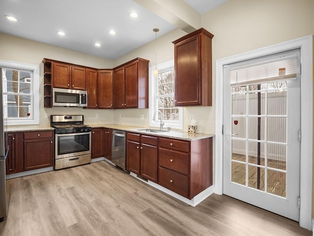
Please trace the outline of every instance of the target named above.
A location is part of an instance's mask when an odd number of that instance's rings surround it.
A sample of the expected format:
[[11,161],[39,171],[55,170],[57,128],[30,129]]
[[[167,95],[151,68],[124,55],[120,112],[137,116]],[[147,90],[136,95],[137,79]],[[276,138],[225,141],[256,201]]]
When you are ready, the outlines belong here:
[[[158,76],[154,76],[155,66],[151,67],[150,80],[150,126],[159,127],[160,118],[165,123],[164,127],[182,129],[182,108],[175,107],[175,78],[174,60],[158,64]],[[156,111],[160,111],[156,120],[153,120]]]

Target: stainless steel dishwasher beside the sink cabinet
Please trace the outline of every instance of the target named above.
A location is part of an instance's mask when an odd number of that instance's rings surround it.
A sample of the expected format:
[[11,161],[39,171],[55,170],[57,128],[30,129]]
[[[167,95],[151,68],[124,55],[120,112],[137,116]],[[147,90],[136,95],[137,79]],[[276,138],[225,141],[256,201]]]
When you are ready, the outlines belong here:
[[126,169],[126,132],[112,131],[111,161],[118,167]]

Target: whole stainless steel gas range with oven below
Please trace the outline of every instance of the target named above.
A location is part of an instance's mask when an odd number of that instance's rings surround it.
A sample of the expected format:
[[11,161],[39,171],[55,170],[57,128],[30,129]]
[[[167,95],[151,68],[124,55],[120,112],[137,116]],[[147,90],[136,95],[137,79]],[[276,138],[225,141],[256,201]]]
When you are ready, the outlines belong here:
[[92,128],[83,123],[82,115],[52,115],[54,128],[54,170],[91,162]]

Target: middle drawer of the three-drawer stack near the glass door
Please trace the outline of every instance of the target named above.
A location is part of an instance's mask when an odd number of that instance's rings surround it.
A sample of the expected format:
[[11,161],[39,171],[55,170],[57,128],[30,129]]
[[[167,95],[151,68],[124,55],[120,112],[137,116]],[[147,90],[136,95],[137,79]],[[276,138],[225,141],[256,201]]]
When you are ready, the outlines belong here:
[[188,175],[188,153],[159,148],[159,166]]

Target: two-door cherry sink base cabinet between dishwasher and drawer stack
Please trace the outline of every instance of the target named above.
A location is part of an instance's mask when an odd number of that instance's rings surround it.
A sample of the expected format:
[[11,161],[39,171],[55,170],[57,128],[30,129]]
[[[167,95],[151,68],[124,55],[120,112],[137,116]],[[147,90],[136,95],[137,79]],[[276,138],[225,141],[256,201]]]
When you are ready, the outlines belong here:
[[127,170],[151,181],[158,181],[157,137],[127,133]]

